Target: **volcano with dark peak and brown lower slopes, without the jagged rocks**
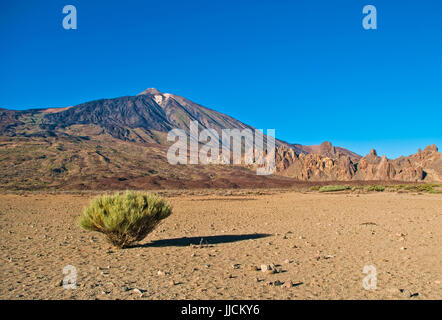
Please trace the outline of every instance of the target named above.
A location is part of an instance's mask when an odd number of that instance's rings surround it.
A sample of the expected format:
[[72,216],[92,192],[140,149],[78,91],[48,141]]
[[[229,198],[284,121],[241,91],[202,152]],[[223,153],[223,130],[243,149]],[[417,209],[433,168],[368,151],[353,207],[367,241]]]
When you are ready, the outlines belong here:
[[278,186],[247,166],[171,165],[167,132],[243,129],[232,117],[148,89],[62,109],[0,110],[0,185],[6,189]]

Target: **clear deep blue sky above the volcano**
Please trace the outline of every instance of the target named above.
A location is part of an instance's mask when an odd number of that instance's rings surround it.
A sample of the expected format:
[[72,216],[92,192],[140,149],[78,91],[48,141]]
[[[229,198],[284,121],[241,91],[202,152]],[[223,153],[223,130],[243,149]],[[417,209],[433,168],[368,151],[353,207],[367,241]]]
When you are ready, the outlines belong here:
[[[67,4],[77,30],[62,27]],[[362,28],[367,4],[377,30]],[[0,15],[3,108],[155,87],[288,142],[442,148],[439,0],[16,0]]]

